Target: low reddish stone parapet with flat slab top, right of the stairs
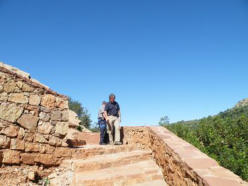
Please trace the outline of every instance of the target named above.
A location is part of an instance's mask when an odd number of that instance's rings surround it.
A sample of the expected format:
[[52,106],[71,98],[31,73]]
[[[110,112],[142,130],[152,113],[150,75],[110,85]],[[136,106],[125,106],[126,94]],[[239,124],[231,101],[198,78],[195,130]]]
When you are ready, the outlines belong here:
[[123,127],[122,130],[124,144],[136,144],[152,150],[154,159],[169,185],[248,185],[164,127]]

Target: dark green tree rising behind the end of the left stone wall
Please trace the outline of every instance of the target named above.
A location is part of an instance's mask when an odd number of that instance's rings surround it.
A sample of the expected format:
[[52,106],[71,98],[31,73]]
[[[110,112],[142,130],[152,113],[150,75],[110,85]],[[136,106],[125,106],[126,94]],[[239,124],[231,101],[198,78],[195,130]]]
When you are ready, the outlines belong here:
[[91,119],[90,114],[88,113],[88,110],[82,106],[82,104],[79,101],[72,100],[69,98],[69,108],[76,112],[78,115],[78,118],[81,120],[80,125],[90,128],[91,125]]

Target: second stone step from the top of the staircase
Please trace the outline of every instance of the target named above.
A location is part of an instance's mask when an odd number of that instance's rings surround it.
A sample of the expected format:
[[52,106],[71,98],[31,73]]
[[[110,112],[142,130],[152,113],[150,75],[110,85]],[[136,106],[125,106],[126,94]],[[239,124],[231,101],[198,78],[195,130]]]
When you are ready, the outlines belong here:
[[152,157],[150,150],[136,150],[132,152],[119,152],[107,155],[97,155],[86,160],[70,160],[75,172],[104,169],[148,160]]

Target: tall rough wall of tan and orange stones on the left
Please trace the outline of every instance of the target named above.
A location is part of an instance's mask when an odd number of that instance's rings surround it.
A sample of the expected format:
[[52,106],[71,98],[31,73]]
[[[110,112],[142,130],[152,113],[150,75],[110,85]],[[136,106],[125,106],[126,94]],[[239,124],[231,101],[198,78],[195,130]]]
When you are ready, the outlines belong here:
[[0,63],[0,164],[57,165],[69,114],[66,96]]

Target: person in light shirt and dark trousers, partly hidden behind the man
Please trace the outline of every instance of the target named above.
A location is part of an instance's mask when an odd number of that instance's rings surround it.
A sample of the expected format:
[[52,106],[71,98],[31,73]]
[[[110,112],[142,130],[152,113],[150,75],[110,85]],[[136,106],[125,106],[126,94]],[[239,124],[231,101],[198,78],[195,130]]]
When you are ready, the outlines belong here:
[[105,136],[106,136],[106,120],[104,117],[104,111],[105,111],[105,106],[106,106],[106,102],[103,101],[102,105],[98,111],[98,124],[99,124],[99,128],[100,128],[100,145],[106,145],[105,142]]

